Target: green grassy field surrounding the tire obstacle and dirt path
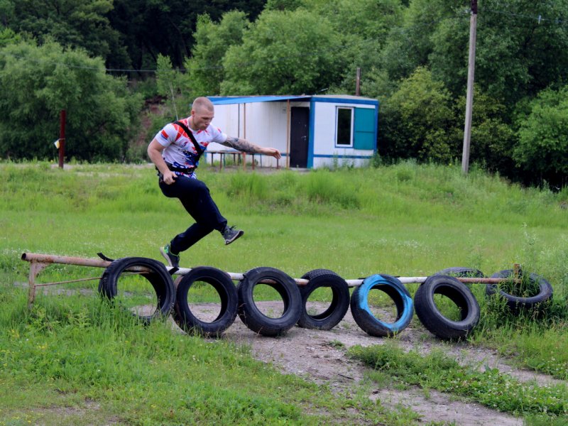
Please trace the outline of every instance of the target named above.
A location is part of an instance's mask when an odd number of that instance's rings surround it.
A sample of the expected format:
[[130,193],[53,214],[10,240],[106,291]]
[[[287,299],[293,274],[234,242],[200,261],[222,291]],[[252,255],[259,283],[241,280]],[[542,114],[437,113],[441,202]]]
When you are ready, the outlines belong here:
[[[424,276],[450,266],[489,275],[521,263],[555,289],[545,315],[512,316],[474,285],[481,322],[469,340],[498,349],[518,366],[568,380],[566,188],[523,189],[479,170],[464,177],[456,166],[414,163],[311,173],[204,167],[199,174],[229,224],[246,233],[231,246],[217,233],[207,236],[182,253],[182,266],[231,272],[272,266],[293,277],[329,268],[351,279]],[[331,395],[282,376],[253,361],[246,347],[176,334],[167,322],[141,327],[92,292],[40,294],[28,311],[21,283],[29,264],[21,253],[94,258],[102,251],[111,258],[160,259],[159,246],[190,219],[178,200],[161,195],[153,168],[146,166],[59,170],[48,163],[9,163],[0,165],[0,178],[0,425],[414,421],[413,413],[386,410],[364,395]],[[97,273],[53,265],[40,281]],[[409,285],[411,293],[416,286]],[[97,281],[65,288],[96,290]],[[373,365],[383,356],[361,351],[357,356],[371,357]],[[442,364],[444,371],[457,371]],[[385,367],[381,373],[398,374]],[[564,424],[566,404],[553,399],[568,400],[568,393],[565,387],[555,392],[535,393],[532,405],[499,407],[529,424]],[[501,404],[498,395],[493,398]]]

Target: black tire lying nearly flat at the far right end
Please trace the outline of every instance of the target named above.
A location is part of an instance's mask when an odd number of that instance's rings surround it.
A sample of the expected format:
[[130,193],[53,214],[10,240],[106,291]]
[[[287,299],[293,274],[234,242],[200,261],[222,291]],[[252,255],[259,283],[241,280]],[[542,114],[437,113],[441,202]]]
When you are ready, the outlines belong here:
[[[512,269],[506,269],[504,271],[499,271],[491,275],[491,278],[512,278],[514,271]],[[523,277],[523,271],[519,271],[519,277]],[[509,310],[513,313],[518,313],[521,310],[534,310],[538,307],[545,306],[545,302],[552,298],[552,285],[542,278],[540,275],[531,273],[529,275],[530,283],[532,285],[538,286],[538,293],[530,297],[520,297],[515,295],[510,295],[501,290],[499,284],[488,284],[485,288],[485,293],[488,296],[499,294],[506,300],[506,305]]]

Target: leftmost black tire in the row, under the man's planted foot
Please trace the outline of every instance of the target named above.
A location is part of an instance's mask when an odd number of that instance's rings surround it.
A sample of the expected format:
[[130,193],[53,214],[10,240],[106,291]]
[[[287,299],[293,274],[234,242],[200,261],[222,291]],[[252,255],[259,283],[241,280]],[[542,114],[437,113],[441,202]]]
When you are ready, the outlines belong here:
[[163,263],[155,261],[154,259],[141,257],[116,259],[116,261],[112,261],[104,270],[99,280],[99,293],[109,300],[114,299],[118,294],[117,283],[120,275],[138,266],[148,268],[151,271],[149,273],[141,273],[141,275],[151,283],[158,297],[158,304],[151,315],[136,315],[143,322],[148,324],[157,317],[167,317],[175,302],[173,280]]

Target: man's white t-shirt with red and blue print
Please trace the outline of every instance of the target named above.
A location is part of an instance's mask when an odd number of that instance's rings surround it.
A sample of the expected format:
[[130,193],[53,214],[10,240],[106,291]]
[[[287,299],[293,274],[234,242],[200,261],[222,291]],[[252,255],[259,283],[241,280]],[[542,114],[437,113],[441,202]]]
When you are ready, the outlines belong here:
[[[226,134],[221,129],[209,124],[207,129],[193,131],[190,128],[189,118],[179,120],[193,133],[195,140],[200,144],[203,151],[207,149],[209,143],[223,143],[226,141]],[[162,157],[166,163],[170,163],[176,168],[187,168],[187,173],[174,172],[176,175],[187,175],[195,178],[193,169],[199,165],[197,160],[197,150],[191,139],[185,134],[185,131],[179,124],[166,124],[162,130],[155,135],[156,141],[164,146]]]

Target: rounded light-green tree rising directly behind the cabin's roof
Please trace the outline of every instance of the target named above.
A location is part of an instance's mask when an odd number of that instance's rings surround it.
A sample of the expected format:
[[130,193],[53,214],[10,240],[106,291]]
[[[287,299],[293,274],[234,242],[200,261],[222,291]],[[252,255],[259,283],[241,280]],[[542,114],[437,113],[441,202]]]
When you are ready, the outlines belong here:
[[327,19],[309,11],[264,11],[224,58],[222,94],[315,94],[344,67]]

